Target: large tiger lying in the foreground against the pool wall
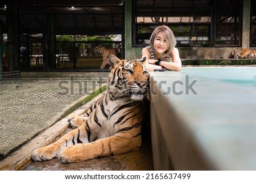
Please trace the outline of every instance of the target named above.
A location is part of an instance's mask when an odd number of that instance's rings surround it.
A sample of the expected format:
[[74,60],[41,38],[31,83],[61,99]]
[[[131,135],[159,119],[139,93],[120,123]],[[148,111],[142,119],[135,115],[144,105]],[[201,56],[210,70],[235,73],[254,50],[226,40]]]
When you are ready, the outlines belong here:
[[32,160],[56,157],[61,163],[75,163],[139,150],[149,112],[148,71],[138,60],[119,60],[110,54],[107,61],[106,93],[82,115],[68,118],[75,129],[32,151]]

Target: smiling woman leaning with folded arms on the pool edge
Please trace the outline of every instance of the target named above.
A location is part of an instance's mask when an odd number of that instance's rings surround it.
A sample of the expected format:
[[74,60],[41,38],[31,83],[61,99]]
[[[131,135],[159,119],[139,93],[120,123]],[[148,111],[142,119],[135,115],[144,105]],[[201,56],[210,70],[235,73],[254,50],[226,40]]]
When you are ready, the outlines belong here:
[[165,25],[158,26],[150,36],[150,46],[142,49],[142,57],[146,57],[144,65],[148,71],[155,69],[181,70],[179,51],[175,48],[174,33]]

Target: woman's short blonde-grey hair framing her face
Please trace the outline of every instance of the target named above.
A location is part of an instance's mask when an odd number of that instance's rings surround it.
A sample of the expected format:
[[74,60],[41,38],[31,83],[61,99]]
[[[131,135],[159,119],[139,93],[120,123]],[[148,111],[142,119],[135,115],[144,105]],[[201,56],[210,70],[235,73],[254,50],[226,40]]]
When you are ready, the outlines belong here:
[[171,53],[172,49],[176,46],[176,39],[175,39],[174,33],[172,32],[171,28],[169,28],[168,26],[162,25],[162,26],[156,27],[150,36],[150,46],[154,52],[155,52],[155,49],[153,46],[154,40],[156,38],[156,35],[158,35],[159,32],[163,33],[164,39],[166,40],[167,51],[164,56],[167,56],[168,54]]

